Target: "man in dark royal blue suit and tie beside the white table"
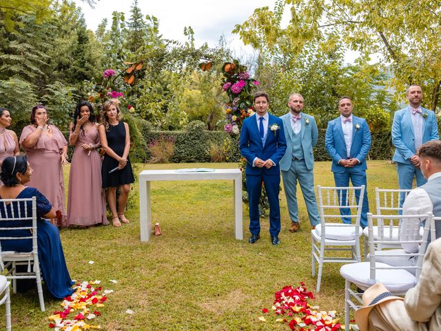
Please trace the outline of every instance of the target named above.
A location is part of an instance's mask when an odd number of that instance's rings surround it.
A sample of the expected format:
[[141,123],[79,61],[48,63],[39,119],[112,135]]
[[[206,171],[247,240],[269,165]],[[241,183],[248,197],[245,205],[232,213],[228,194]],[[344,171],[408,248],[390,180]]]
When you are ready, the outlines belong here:
[[278,191],[280,185],[279,161],[287,143],[282,120],[268,113],[269,97],[265,92],[254,94],[256,114],[243,121],[240,132],[240,153],[247,159],[245,168],[249,199],[249,243],[260,238],[259,199],[262,182],[269,201],[269,234],[271,243],[278,245],[280,232],[280,207]]

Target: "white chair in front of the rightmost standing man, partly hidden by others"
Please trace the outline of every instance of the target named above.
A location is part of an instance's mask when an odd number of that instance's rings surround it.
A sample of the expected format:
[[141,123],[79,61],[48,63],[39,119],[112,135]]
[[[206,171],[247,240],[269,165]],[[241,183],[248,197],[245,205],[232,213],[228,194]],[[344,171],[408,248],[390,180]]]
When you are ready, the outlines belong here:
[[[404,194],[407,197],[411,190],[394,190],[394,189],[375,189],[375,200],[377,215],[398,215],[402,212],[402,205],[400,205],[400,197]],[[400,232],[400,222],[395,219],[378,219],[378,225],[373,226],[373,237],[378,238],[378,232],[381,232],[385,237],[389,238],[389,241],[398,241],[398,233]],[[368,239],[369,234],[367,228],[363,230],[363,236],[365,237],[364,255],[367,259],[367,248],[369,247]],[[376,250],[382,250],[383,248],[400,248],[400,244],[391,243],[389,245],[376,245]]]

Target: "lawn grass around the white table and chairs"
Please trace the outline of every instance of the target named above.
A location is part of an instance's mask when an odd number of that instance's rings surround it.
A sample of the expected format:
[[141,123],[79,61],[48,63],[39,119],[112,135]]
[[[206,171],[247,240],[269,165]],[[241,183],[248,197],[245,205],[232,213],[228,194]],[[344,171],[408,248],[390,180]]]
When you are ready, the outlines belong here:
[[[369,161],[368,190],[371,210],[373,189],[397,188],[396,169],[387,161]],[[235,163],[149,164],[141,169],[236,168]],[[316,162],[316,185],[334,185],[329,162]],[[65,169],[66,183],[68,168]],[[66,185],[67,186],[67,185]],[[67,190],[67,187],[66,187]],[[306,283],[311,277],[310,225],[303,199],[299,199],[301,227],[288,231],[285,195],[280,194],[281,244],[269,241],[267,218],[261,220],[260,240],[250,245],[248,209],[244,205],[244,240],[234,239],[234,205],[229,181],[174,181],[152,183],[152,221],[163,235],[141,243],[138,186],[135,185],[122,228],[97,226],[63,229],[61,240],[71,277],[100,279],[112,288],[101,316],[101,330],[288,330],[287,325],[258,321],[262,308],[270,308],[274,292],[284,285]],[[88,261],[94,261],[89,264]],[[337,310],[343,317],[344,281],[340,265],[326,264],[322,288],[314,304]],[[110,283],[116,279],[118,283]],[[45,294],[46,312],[39,310],[37,291],[12,294],[13,330],[48,330],[47,317],[61,301]],[[0,314],[3,309],[0,308]],[[125,310],[134,310],[126,314]],[[0,328],[4,322],[0,321]]]

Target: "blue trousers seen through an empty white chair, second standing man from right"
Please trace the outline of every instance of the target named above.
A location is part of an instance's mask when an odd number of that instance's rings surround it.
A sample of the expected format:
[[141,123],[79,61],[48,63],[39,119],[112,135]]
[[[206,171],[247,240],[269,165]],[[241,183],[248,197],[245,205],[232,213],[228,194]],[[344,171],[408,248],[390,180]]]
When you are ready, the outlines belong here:
[[[362,228],[367,227],[367,213],[369,212],[369,201],[367,200],[367,179],[366,172],[364,170],[357,171],[352,168],[345,169],[345,172],[334,172],[334,181],[337,187],[348,187],[349,179],[351,179],[352,186],[365,185],[365,195],[363,197],[363,205],[361,210],[360,225]],[[342,194],[342,199],[345,201],[346,194]],[[356,191],[356,201],[360,199],[360,191]],[[342,215],[350,215],[351,210],[349,208],[340,208]],[[351,224],[351,218],[342,217],[343,223]]]

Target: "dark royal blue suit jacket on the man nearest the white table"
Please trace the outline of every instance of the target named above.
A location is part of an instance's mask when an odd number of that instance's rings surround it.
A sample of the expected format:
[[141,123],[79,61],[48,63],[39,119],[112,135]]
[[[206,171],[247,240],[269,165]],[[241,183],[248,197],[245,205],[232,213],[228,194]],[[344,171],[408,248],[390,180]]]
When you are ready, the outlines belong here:
[[[269,127],[273,124],[277,124],[279,129],[271,131]],[[268,131],[267,140],[265,146],[260,139],[259,130],[257,127],[256,115],[245,119],[242,123],[242,130],[240,131],[239,141],[240,153],[245,159],[247,159],[247,167],[245,168],[245,174],[278,174],[280,175],[279,161],[282,159],[283,154],[287,149],[287,143],[285,141],[285,133],[283,132],[282,120],[269,114],[268,117]],[[269,169],[253,167],[254,159],[258,157],[263,161],[271,159],[276,166]]]

